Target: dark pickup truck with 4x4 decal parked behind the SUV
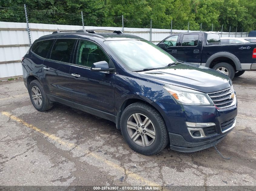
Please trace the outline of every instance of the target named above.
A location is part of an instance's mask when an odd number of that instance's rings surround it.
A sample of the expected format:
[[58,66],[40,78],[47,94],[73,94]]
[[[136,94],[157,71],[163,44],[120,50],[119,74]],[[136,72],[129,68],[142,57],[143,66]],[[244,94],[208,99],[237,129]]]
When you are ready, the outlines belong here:
[[256,71],[256,43],[221,45],[218,33],[172,34],[158,46],[180,61],[213,68],[231,79]]

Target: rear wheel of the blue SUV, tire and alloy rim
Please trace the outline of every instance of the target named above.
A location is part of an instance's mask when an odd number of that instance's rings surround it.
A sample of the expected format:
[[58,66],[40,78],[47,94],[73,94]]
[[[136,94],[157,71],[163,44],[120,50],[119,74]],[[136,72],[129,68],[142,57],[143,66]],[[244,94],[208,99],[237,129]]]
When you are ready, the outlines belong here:
[[33,80],[28,87],[30,100],[38,111],[47,111],[52,108],[45,91],[38,80]]

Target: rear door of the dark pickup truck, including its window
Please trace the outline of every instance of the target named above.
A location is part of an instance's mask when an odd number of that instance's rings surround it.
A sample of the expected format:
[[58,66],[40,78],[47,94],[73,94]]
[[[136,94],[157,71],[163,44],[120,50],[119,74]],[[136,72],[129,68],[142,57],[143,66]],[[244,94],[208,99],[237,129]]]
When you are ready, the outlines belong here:
[[177,47],[177,59],[200,64],[202,33],[181,34],[180,46]]

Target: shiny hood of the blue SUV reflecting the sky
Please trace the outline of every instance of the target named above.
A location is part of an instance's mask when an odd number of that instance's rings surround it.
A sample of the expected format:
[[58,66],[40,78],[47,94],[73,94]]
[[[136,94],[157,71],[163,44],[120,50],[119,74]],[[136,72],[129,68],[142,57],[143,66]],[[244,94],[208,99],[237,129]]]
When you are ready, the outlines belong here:
[[232,85],[232,81],[228,76],[211,68],[186,62],[138,73],[145,78],[159,81],[163,84],[172,84],[204,93],[220,91]]

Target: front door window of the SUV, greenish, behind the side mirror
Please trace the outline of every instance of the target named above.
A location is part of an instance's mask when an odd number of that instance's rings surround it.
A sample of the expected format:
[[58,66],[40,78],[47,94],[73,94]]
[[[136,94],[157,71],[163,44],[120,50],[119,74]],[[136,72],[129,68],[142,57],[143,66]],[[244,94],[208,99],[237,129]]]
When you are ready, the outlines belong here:
[[76,64],[91,67],[93,63],[106,61],[108,57],[96,44],[81,40],[78,46]]

